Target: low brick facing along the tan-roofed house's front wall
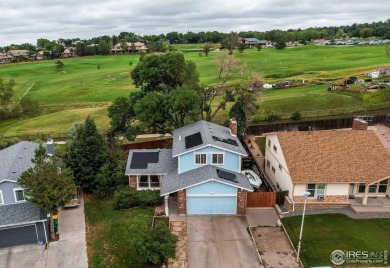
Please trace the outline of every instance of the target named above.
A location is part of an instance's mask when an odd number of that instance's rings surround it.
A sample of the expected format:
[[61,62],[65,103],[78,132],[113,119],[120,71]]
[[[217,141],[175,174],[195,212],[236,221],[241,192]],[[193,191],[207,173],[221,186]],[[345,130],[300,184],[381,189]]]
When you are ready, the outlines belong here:
[[[303,210],[304,198],[302,196],[294,197],[295,205],[291,200],[286,196],[284,199],[284,208],[288,211],[294,210]],[[306,209],[316,210],[316,209],[329,209],[329,208],[345,208],[349,207],[350,203],[348,201],[348,196],[326,196],[324,200],[309,199],[306,202]]]

